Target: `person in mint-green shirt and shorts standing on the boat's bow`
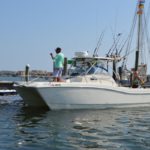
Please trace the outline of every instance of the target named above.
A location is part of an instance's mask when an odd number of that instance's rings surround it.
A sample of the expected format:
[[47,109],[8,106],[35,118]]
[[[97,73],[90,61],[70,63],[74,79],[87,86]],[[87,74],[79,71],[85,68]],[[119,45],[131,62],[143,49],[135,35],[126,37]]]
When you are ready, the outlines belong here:
[[61,48],[57,47],[55,49],[56,56],[54,57],[52,53],[50,53],[53,61],[54,61],[54,71],[53,71],[53,76],[54,76],[54,82],[61,82],[61,76],[62,76],[62,71],[63,71],[63,66],[64,66],[64,54],[61,52]]

